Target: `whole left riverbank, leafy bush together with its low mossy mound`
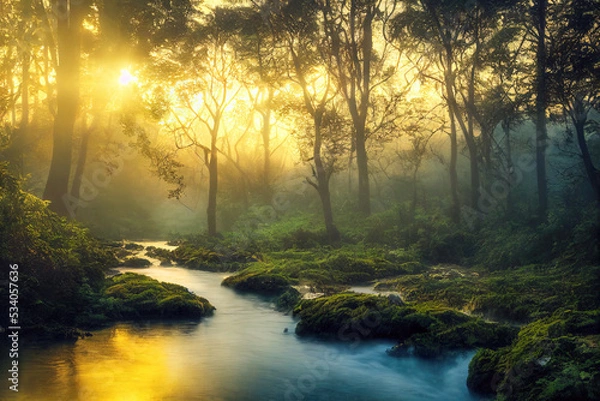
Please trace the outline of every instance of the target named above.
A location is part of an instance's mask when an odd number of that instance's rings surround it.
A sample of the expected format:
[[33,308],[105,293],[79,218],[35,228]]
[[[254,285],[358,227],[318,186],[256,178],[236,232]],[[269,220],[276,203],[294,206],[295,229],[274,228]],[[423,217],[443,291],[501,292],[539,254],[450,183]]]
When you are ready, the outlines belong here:
[[[213,307],[185,288],[135,274],[107,279],[117,266],[115,254],[140,246],[105,243],[87,230],[58,217],[47,203],[21,191],[20,183],[0,165],[0,308],[8,311],[8,269],[18,264],[19,323],[24,334],[53,338],[82,335],[115,319],[201,317]],[[128,249],[126,249],[128,248]],[[128,265],[147,265],[141,258]]]

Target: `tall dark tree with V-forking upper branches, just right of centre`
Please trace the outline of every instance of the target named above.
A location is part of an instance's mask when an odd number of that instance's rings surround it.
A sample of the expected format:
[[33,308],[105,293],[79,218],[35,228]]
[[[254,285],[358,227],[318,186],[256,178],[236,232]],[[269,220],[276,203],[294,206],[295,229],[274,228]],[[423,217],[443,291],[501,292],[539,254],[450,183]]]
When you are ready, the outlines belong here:
[[382,21],[395,5],[385,0],[324,0],[320,11],[328,66],[347,103],[353,124],[353,147],[358,168],[358,209],[371,213],[367,141],[378,127],[369,121],[373,95],[391,78],[389,43],[383,40]]

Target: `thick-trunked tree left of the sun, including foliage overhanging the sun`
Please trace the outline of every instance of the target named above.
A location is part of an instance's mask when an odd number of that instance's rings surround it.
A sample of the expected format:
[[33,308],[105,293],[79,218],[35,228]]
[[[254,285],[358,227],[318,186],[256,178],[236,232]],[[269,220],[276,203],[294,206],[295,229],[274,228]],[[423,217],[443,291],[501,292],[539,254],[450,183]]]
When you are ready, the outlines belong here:
[[[94,5],[95,7],[92,7]],[[190,0],[160,4],[59,0],[55,2],[58,65],[56,67],[57,114],[54,121],[52,161],[44,198],[62,215],[69,209],[69,182],[73,153],[74,124],[79,111],[82,23],[98,10],[102,28],[111,32],[112,46],[135,56],[147,55],[157,46],[181,37],[193,9]],[[118,33],[118,34],[116,34]],[[118,52],[117,52],[118,53]]]

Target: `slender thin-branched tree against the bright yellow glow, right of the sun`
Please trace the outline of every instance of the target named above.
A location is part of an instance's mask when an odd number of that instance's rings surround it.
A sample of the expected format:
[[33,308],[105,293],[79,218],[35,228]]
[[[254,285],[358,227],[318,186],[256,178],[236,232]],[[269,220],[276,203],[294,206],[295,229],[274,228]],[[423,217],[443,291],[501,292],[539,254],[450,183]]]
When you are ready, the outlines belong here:
[[177,54],[177,101],[171,106],[167,128],[178,149],[196,148],[209,174],[206,208],[208,235],[217,235],[219,139],[229,106],[241,86],[232,41],[239,26],[230,9],[215,8],[204,16],[190,41]]

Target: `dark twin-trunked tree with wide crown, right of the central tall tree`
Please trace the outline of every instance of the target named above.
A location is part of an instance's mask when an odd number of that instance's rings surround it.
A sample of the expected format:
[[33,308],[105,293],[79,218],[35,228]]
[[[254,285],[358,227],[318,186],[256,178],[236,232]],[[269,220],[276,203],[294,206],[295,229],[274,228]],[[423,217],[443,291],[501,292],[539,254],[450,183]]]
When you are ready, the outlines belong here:
[[[443,86],[443,95],[450,120],[450,187],[453,199],[452,217],[458,220],[458,182],[456,177],[456,154],[458,127],[463,133],[469,152],[471,175],[470,206],[479,208],[482,188],[480,177],[481,148],[491,146],[492,126],[501,118],[483,118],[477,91],[479,78],[485,71],[484,49],[489,41],[501,34],[502,14],[515,1],[456,2],[414,0],[394,18],[396,37],[410,35],[416,40],[413,47],[423,48],[431,63],[441,71],[441,78],[433,76]],[[495,41],[496,45],[499,43]],[[510,43],[510,42],[509,42]],[[428,73],[425,73],[428,74]],[[428,76],[431,77],[429,73]],[[495,124],[494,124],[495,123]],[[476,132],[479,126],[479,136]],[[483,142],[481,146],[480,142]],[[488,156],[489,159],[489,156]]]

